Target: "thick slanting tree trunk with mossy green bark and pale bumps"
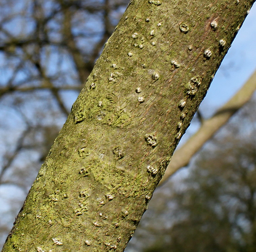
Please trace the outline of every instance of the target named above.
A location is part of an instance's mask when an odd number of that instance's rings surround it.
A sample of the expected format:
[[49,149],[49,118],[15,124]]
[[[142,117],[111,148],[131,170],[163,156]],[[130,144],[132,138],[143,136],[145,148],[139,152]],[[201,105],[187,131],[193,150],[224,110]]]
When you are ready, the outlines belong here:
[[3,252],[123,251],[254,1],[131,1]]

